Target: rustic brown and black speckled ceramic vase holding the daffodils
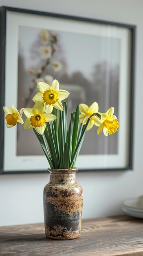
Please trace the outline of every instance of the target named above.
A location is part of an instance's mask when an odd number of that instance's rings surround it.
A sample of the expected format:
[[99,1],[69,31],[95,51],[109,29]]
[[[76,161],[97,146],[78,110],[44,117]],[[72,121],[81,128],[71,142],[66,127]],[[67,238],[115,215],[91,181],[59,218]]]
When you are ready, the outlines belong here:
[[67,240],[80,236],[83,191],[73,169],[48,169],[50,182],[43,192],[47,238]]

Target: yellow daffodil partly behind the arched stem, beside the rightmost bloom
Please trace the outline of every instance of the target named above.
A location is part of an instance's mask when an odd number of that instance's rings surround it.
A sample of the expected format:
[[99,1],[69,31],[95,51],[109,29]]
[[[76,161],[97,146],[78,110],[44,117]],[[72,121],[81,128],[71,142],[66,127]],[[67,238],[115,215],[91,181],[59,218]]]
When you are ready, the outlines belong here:
[[[98,111],[99,106],[96,101],[93,102],[90,107],[88,107],[86,104],[83,104],[83,103],[79,104],[79,107],[80,107],[80,112],[81,112],[81,114],[79,115],[79,120],[83,124],[86,124],[88,117],[90,117],[93,113],[100,114],[100,112]],[[91,117],[89,124],[87,126],[87,130],[90,130],[93,127],[93,125],[96,125],[96,126],[101,125],[101,120],[98,119],[98,117],[96,117],[96,116]]]

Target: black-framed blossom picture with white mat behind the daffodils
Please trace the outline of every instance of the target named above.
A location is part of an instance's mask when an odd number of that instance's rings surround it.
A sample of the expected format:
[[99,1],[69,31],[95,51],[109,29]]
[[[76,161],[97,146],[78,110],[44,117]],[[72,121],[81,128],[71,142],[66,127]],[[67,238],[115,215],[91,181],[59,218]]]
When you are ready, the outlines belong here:
[[37,81],[68,90],[68,113],[97,101],[114,106],[119,130],[86,132],[76,166],[81,171],[132,169],[135,26],[56,13],[0,7],[1,173],[46,172],[33,130],[6,128],[2,107],[33,107]]

